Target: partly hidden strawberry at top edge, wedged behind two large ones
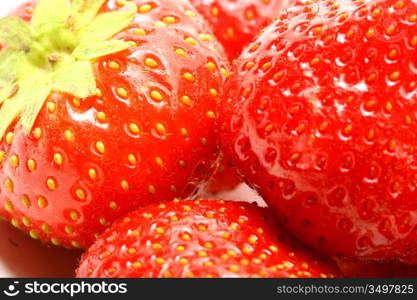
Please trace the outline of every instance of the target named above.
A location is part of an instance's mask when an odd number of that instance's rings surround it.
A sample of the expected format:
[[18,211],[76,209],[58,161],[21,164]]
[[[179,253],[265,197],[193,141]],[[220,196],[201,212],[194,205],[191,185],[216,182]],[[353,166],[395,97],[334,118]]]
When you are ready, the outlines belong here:
[[288,0],[191,0],[211,24],[230,60],[272,20]]

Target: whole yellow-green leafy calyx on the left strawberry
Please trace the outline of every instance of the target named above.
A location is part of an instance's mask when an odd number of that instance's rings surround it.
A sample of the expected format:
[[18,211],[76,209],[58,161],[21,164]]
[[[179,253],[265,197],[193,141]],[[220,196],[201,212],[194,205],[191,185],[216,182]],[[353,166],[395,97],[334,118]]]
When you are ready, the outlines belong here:
[[31,23],[0,19],[0,139],[16,119],[26,132],[52,91],[77,98],[97,92],[92,62],[129,48],[112,39],[137,7],[125,2],[99,13],[106,0],[40,0]]

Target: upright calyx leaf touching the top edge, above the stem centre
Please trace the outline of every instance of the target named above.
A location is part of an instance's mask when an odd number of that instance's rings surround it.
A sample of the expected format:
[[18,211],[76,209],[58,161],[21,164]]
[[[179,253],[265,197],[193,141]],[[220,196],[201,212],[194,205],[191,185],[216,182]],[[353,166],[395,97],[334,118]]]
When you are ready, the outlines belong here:
[[38,33],[49,31],[49,28],[67,27],[70,15],[70,0],[40,0],[32,17],[32,25]]

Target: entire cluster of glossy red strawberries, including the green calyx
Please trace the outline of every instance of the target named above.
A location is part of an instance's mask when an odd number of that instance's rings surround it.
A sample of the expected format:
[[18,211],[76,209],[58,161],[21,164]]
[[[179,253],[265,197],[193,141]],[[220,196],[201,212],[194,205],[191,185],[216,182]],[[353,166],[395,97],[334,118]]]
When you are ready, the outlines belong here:
[[[0,214],[78,277],[415,276],[416,141],[412,0],[0,19]],[[241,180],[269,207],[200,199]]]

